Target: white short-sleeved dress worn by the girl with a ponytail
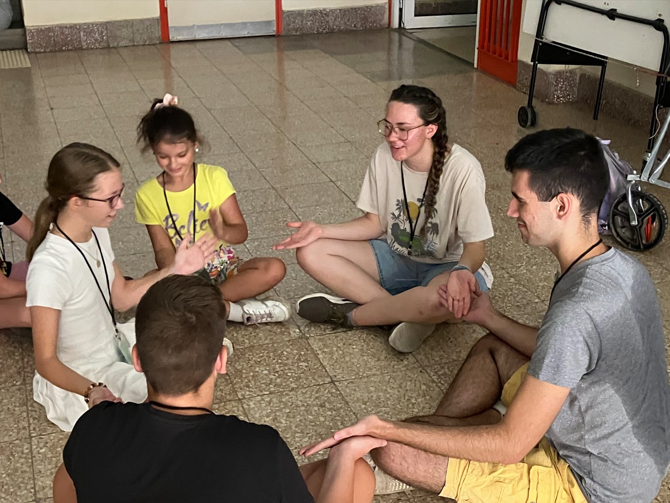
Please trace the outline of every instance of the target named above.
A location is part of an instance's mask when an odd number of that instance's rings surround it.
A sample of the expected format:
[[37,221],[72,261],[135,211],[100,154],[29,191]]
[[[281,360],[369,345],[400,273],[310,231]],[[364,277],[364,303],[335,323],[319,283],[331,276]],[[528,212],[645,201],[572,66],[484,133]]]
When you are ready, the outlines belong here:
[[[114,281],[114,253],[105,228],[94,228],[107,265],[109,284]],[[107,280],[95,238],[77,243],[92,267],[109,301]],[[71,242],[48,233],[30,262],[26,279],[26,305],[60,310],[56,354],[66,366],[92,382],[104,382],[123,401],[143,402],[147,397],[144,374],[125,361],[116,342],[111,315],[102,295]],[[44,406],[47,417],[64,431],[72,431],[77,419],[88,410],[80,394],[66,391],[35,372],[33,397]],[[83,391],[83,390],[82,390]]]

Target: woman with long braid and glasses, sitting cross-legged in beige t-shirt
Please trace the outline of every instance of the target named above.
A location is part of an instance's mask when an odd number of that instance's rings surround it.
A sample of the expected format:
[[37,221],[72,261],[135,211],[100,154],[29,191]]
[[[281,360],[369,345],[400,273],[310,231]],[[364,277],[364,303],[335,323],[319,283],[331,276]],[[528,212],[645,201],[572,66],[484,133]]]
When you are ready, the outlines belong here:
[[[399,324],[391,346],[419,348],[435,324],[458,321],[470,298],[493,281],[484,263],[493,236],[484,174],[466,149],[449,143],[442,100],[425,87],[391,93],[357,206],[364,216],[320,225],[289,222],[297,232],[277,244],[296,248],[310,276],[341,295],[307,295],[300,316],[345,326]],[[438,287],[447,285],[448,306]]]

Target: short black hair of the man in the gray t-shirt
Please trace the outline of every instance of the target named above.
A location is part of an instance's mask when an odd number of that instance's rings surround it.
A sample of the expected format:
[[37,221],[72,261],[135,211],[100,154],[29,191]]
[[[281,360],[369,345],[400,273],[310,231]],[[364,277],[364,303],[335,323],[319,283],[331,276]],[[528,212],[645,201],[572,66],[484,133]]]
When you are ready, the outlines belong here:
[[561,192],[580,201],[585,220],[598,214],[610,186],[610,171],[600,141],[565,127],[523,137],[505,156],[505,169],[529,171],[529,185],[540,201]]

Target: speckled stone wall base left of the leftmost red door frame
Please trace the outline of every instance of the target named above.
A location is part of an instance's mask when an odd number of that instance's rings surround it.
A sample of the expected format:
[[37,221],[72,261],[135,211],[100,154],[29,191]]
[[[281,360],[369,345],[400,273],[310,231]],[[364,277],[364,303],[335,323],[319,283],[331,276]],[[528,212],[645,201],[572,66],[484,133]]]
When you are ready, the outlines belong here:
[[145,46],[161,41],[160,21],[157,17],[35,26],[27,27],[25,31],[29,52]]

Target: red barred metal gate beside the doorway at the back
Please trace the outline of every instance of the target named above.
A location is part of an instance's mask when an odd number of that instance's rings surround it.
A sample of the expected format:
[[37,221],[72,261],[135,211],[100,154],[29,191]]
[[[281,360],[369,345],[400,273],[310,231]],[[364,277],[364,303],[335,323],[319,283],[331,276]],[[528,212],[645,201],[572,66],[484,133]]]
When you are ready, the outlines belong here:
[[482,0],[479,13],[477,67],[517,84],[521,0]]

